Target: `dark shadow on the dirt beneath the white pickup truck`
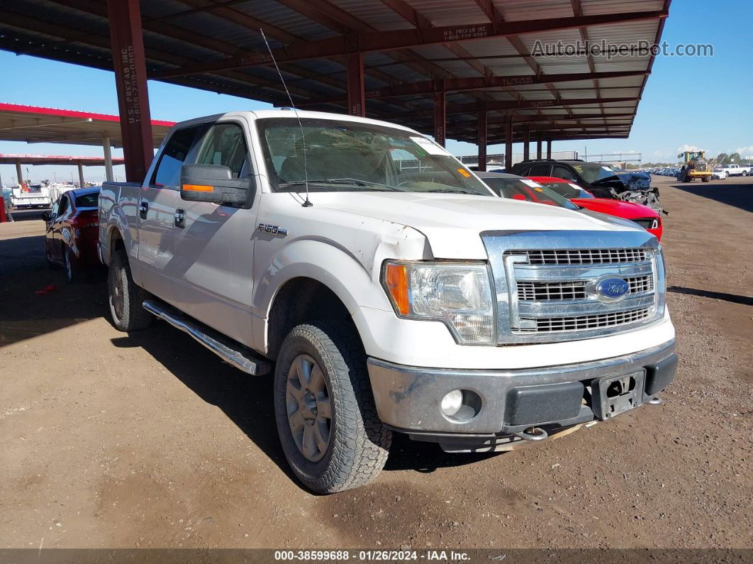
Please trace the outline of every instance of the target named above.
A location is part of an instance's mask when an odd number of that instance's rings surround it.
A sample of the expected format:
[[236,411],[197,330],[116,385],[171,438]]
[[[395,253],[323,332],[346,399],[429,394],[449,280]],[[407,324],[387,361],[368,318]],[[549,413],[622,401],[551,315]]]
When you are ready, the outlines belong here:
[[[166,323],[111,340],[114,346],[139,346],[203,401],[225,413],[279,468],[300,485],[282,453],[272,401],[273,378],[248,376],[220,361],[191,337]],[[386,471],[432,472],[477,462],[495,455],[446,454],[433,443],[410,441],[395,434]]]

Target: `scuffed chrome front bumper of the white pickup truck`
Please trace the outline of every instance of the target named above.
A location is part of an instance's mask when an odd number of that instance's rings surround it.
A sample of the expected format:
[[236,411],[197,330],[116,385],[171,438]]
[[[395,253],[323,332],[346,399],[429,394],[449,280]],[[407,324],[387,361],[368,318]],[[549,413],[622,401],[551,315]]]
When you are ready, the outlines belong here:
[[[592,394],[597,379],[635,377],[640,389],[630,401],[639,407],[669,386],[676,367],[674,340],[616,358],[523,370],[449,370],[368,359],[371,388],[384,423],[410,434],[456,437],[500,436],[537,425],[559,428],[608,419],[598,394]],[[456,389],[480,398],[476,415],[465,422],[441,413],[442,398]]]

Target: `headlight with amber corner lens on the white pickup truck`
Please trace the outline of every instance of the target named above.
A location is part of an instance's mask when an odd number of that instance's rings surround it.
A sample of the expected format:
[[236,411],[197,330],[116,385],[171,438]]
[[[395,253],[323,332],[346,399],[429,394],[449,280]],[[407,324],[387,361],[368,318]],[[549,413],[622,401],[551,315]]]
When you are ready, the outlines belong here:
[[398,316],[445,322],[459,343],[494,342],[486,264],[387,261],[382,283]]

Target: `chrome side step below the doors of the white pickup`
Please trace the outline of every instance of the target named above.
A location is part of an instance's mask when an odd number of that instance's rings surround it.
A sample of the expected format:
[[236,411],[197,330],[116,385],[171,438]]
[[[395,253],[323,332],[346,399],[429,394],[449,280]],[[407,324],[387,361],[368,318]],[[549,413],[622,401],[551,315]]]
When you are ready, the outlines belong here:
[[173,327],[191,335],[191,337],[194,337],[194,339],[203,344],[203,346],[206,346],[207,349],[214,352],[222,360],[228,364],[233,364],[234,367],[247,374],[260,376],[272,370],[269,362],[255,358],[250,351],[243,350],[245,347],[240,343],[236,343],[219,334],[214,329],[206,327],[206,325],[188,316],[184,316],[184,314],[166,303],[157,300],[144,300],[143,306],[148,312],[153,313]]

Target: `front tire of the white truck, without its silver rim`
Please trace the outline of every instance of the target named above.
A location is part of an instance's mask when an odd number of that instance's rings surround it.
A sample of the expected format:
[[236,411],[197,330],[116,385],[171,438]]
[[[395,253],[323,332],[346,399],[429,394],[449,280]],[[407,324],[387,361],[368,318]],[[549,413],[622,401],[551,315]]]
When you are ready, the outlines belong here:
[[[291,364],[312,357],[322,369],[331,401],[329,445],[319,462],[303,456],[288,423],[286,390]],[[347,322],[321,321],[294,327],[280,347],[274,382],[277,431],[294,474],[318,493],[364,486],[384,468],[392,432],[380,422],[366,367],[366,355]]]

